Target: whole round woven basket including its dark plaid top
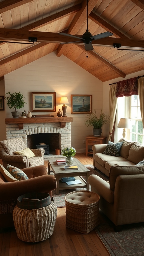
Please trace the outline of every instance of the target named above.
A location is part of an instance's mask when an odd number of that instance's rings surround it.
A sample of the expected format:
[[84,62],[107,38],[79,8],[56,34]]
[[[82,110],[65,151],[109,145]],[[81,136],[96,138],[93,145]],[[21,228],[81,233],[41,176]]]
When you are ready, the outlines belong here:
[[49,238],[53,234],[57,217],[57,206],[51,201],[50,195],[31,193],[17,200],[13,220],[18,238],[25,242]]

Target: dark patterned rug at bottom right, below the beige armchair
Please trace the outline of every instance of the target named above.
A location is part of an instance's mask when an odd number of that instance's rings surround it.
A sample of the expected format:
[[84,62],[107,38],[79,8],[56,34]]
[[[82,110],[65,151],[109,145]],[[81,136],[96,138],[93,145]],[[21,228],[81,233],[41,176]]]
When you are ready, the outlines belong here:
[[144,222],[123,225],[115,232],[113,223],[95,228],[111,256],[144,256]]

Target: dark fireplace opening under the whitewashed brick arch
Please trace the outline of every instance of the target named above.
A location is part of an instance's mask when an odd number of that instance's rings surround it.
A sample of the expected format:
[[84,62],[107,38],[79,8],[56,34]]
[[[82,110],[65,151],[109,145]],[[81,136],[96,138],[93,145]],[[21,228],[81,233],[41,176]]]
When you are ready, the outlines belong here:
[[49,153],[55,154],[56,148],[59,148],[59,134],[58,133],[37,133],[27,135],[27,147],[37,148],[40,143],[49,145]]

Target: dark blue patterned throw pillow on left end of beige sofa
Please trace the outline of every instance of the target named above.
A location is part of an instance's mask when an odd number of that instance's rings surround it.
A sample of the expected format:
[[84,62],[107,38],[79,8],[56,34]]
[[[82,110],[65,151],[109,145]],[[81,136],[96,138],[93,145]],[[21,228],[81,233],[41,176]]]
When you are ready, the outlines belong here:
[[106,149],[104,152],[102,152],[102,154],[110,155],[110,156],[119,156],[119,152],[122,144],[123,144],[123,141],[117,142],[117,143],[108,141]]

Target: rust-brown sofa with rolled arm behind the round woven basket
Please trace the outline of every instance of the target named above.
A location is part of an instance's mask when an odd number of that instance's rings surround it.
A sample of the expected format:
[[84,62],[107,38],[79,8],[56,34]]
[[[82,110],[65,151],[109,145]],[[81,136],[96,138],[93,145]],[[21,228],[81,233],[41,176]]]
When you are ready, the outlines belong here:
[[22,169],[28,179],[6,182],[0,173],[0,228],[14,226],[12,211],[20,195],[31,192],[46,192],[52,198],[52,190],[56,189],[54,175],[47,174],[44,165]]

